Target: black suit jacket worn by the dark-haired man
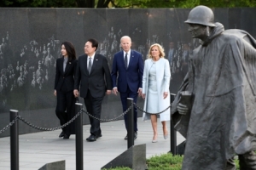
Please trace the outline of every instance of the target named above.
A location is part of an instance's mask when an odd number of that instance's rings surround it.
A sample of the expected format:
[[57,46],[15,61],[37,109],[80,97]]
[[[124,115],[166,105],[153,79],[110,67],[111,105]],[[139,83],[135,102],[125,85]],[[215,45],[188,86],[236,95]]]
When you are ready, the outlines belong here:
[[103,97],[108,90],[112,90],[111,75],[108,60],[102,54],[95,54],[90,74],[87,71],[87,54],[79,56],[74,89],[79,90],[80,97],[85,98],[88,89],[94,98]]

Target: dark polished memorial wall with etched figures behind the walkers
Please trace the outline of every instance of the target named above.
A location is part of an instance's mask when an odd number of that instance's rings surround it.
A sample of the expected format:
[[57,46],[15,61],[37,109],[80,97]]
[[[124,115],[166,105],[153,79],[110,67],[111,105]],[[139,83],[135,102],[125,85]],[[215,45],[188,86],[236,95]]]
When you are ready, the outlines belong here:
[[[215,20],[225,29],[237,28],[256,36],[255,8],[214,8]],[[119,39],[128,35],[132,48],[147,59],[148,48],[160,43],[168,54],[174,42],[177,53],[172,59],[170,91],[177,89],[187,71],[189,51],[198,46],[187,20],[190,9],[90,9],[90,8],[0,8],[0,130],[9,124],[9,110],[39,127],[57,127],[55,116],[55,59],[61,57],[61,42],[73,42],[78,56],[84,54],[84,43],[90,37],[99,42],[97,53],[108,59],[120,50]],[[84,103],[83,99],[80,99]],[[138,100],[143,107],[143,99]],[[122,113],[119,96],[105,97],[102,118]],[[142,112],[139,111],[139,116]],[[88,124],[84,116],[84,124]],[[21,133],[38,132],[20,122]],[[0,137],[9,136],[9,130]]]

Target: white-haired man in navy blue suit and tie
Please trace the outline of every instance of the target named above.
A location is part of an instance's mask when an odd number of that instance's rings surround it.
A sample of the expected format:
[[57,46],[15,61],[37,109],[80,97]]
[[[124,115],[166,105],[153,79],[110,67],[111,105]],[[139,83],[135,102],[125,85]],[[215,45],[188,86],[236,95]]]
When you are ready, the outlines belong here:
[[[113,55],[112,84],[113,94],[120,93],[123,111],[127,110],[126,100],[132,98],[137,103],[137,95],[142,94],[143,56],[131,50],[131,37],[124,36],[120,39],[122,51]],[[125,128],[128,120],[125,114]],[[127,135],[125,139],[127,139]],[[134,139],[137,139],[137,108],[134,107]]]

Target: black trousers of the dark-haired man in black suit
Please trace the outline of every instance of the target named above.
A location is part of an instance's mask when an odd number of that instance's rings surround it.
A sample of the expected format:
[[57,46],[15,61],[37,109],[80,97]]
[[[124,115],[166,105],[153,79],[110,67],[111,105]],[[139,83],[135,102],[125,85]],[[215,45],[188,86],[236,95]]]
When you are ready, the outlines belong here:
[[[97,118],[101,118],[102,113],[102,100],[104,96],[101,98],[94,98],[90,94],[90,90],[88,90],[86,97],[84,98],[84,104],[86,106],[86,110],[90,113],[90,115],[95,116]],[[89,116],[90,119],[90,134],[97,136],[102,134],[102,130],[100,127],[100,121]]]

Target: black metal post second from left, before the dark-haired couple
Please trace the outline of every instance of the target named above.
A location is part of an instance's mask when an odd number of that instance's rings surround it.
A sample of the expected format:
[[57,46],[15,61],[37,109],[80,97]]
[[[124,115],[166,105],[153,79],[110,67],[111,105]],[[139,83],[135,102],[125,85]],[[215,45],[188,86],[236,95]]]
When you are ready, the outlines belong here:
[[[75,111],[76,114],[82,108],[82,104],[76,103]],[[75,127],[76,127],[76,170],[83,170],[84,169],[84,147],[83,147],[83,113],[75,120]]]

